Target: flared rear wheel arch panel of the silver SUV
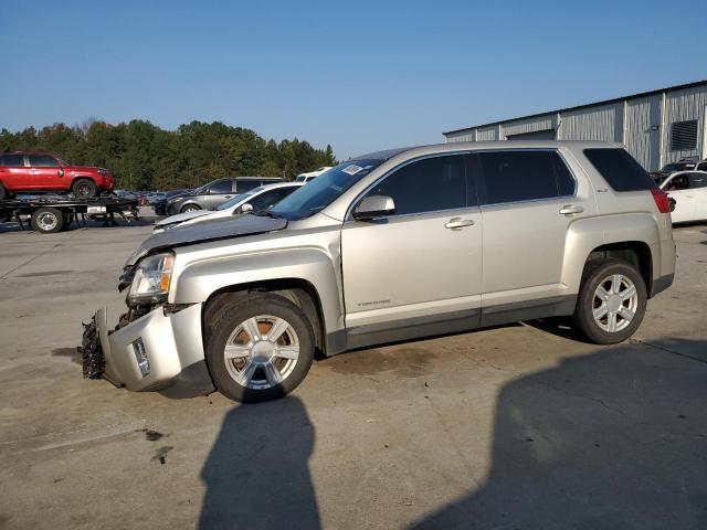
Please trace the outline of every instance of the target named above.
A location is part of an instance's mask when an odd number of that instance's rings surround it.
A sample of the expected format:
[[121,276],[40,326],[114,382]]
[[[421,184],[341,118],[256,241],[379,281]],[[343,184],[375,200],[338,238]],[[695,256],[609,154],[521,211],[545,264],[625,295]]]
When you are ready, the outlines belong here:
[[572,293],[579,293],[584,263],[591,252],[611,243],[642,242],[651,248],[653,271],[661,271],[658,225],[647,213],[624,213],[580,219],[567,232],[562,284]]

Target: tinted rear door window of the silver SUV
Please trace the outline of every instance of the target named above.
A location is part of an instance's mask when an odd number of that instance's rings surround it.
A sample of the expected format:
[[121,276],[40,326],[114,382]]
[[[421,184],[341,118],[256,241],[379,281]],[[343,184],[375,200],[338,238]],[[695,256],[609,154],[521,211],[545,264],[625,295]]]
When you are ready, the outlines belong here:
[[482,172],[482,204],[535,201],[574,193],[574,178],[555,151],[494,151],[472,155]]

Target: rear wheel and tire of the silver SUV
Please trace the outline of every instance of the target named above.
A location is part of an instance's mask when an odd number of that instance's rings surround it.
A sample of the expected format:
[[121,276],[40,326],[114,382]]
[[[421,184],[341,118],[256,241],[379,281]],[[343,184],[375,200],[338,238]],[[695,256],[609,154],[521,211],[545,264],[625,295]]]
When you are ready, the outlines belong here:
[[597,344],[615,344],[631,337],[645,315],[647,289],[630,263],[606,258],[590,262],[577,300],[574,325]]

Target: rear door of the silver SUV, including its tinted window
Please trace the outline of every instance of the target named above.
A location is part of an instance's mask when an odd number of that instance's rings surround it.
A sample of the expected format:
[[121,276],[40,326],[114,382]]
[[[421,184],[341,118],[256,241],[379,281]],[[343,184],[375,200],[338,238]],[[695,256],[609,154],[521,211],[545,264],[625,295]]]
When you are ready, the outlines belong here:
[[469,156],[483,218],[482,324],[568,295],[562,262],[569,226],[595,212],[591,191],[557,150],[507,149]]

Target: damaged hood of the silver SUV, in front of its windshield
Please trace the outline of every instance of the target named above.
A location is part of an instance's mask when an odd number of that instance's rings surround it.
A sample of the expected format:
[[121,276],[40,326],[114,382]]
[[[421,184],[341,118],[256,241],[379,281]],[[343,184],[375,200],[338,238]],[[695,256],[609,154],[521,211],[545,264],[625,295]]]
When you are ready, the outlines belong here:
[[261,215],[243,215],[229,219],[214,219],[154,234],[145,240],[126,262],[133,267],[141,257],[157,250],[169,250],[176,246],[204,243],[207,241],[228,240],[243,235],[275,232],[287,226],[286,219],[274,219]]

